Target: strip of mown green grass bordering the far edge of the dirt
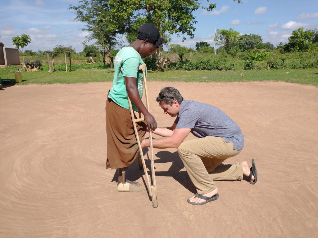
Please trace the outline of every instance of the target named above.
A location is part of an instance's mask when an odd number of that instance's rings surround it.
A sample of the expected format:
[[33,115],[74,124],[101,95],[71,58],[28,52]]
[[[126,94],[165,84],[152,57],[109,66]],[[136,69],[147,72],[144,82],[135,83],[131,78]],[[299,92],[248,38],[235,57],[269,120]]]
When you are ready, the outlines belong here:
[[[72,65],[73,68],[73,65]],[[2,80],[15,82],[15,71],[0,69]],[[76,69],[73,71],[58,70],[49,73],[47,70],[22,72],[23,82],[19,85],[37,83],[87,83],[112,81],[113,69]],[[270,70],[176,70],[148,72],[149,81],[182,81],[182,82],[249,82],[249,81],[282,81],[303,83],[318,86],[317,69],[270,69]]]

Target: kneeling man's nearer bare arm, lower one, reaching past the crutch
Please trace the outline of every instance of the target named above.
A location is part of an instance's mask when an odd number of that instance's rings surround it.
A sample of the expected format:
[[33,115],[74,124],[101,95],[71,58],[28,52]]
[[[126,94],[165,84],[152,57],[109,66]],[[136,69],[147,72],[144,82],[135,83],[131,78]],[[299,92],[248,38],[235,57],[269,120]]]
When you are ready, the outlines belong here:
[[[159,149],[178,148],[190,131],[191,128],[175,129],[172,136],[152,140],[152,146]],[[144,139],[141,146],[142,148],[149,147],[149,139]]]

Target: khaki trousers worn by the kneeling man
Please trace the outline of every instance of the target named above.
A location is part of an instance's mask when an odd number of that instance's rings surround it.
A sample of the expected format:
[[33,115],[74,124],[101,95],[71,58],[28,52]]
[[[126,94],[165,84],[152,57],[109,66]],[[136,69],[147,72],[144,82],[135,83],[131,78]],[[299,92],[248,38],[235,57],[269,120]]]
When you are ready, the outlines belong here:
[[216,188],[213,180],[243,179],[241,162],[221,164],[241,152],[234,150],[233,143],[226,143],[221,137],[206,136],[184,141],[177,151],[198,194],[213,191]]

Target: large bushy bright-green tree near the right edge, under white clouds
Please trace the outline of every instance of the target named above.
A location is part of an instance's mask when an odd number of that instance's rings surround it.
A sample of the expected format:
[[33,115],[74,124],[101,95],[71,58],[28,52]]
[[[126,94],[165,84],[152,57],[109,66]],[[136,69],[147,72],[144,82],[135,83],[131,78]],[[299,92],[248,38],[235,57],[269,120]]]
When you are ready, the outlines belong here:
[[288,43],[285,45],[286,51],[308,51],[312,44],[312,37],[315,35],[313,30],[305,30],[298,28],[293,30],[292,35],[288,37]]

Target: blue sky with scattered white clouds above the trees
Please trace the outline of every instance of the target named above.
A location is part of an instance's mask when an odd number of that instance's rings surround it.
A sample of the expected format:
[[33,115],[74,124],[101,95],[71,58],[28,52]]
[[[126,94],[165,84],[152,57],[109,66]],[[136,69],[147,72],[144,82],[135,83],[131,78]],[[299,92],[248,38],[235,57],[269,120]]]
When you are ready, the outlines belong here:
[[[2,1],[1,1],[2,2]],[[318,1],[211,0],[217,7],[211,12],[199,9],[195,12],[198,23],[195,37],[181,38],[172,35],[171,43],[195,48],[195,43],[206,41],[214,46],[215,28],[233,28],[240,34],[257,34],[263,42],[276,46],[287,42],[288,36],[299,27],[318,28]],[[15,47],[12,37],[28,34],[31,43],[24,50],[53,50],[56,45],[71,45],[76,52],[83,50],[83,41],[89,34],[80,30],[84,24],[74,21],[75,14],[67,10],[77,0],[7,0],[0,8],[0,42],[6,47]],[[208,3],[205,2],[207,6]],[[123,38],[125,38],[123,36]],[[93,43],[93,42],[92,42]]]

